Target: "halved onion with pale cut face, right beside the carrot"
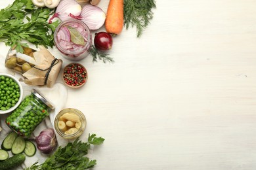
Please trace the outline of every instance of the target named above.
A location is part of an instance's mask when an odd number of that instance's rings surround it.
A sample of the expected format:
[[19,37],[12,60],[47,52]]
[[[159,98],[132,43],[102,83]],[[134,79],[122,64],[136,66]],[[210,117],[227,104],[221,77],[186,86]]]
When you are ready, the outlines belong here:
[[102,9],[94,5],[85,5],[79,18],[89,29],[96,30],[102,27],[106,20],[106,14]]

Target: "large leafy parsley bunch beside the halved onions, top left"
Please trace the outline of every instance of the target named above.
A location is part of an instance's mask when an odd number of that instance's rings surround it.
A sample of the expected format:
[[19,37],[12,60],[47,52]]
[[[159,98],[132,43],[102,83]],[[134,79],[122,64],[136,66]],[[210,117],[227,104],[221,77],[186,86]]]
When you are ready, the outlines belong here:
[[53,33],[58,21],[48,24],[47,20],[53,9],[37,8],[32,0],[16,0],[12,5],[0,10],[0,41],[7,46],[23,52],[22,46],[28,46],[23,40],[32,44],[54,46]]

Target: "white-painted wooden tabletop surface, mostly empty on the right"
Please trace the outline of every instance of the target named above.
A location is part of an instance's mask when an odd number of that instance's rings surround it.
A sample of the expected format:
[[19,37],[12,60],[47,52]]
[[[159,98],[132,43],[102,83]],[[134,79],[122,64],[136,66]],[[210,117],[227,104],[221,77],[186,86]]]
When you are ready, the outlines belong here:
[[140,39],[114,37],[116,63],[83,59],[88,82],[68,89],[106,139],[95,170],[256,169],[256,1],[156,3]]

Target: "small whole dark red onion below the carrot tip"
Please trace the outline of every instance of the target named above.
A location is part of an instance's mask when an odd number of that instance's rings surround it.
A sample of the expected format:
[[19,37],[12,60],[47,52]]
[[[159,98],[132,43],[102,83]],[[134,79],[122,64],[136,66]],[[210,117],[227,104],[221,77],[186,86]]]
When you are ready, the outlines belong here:
[[95,47],[98,50],[110,50],[110,48],[112,48],[112,44],[112,36],[109,33],[95,33]]

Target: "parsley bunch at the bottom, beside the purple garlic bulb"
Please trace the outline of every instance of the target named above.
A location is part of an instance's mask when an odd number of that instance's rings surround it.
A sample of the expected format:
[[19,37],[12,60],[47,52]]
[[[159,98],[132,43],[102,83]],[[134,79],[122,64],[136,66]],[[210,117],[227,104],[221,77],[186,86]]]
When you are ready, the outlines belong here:
[[74,143],[68,143],[65,147],[59,147],[53,155],[47,160],[38,165],[35,162],[31,167],[26,170],[48,170],[48,169],[65,169],[65,170],[83,170],[96,165],[96,160],[89,160],[85,155],[91,144],[102,144],[104,139],[96,137],[95,134],[89,135],[88,142],[83,143],[79,139],[75,139]]

